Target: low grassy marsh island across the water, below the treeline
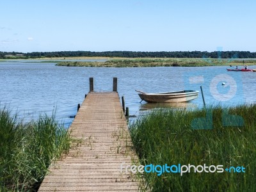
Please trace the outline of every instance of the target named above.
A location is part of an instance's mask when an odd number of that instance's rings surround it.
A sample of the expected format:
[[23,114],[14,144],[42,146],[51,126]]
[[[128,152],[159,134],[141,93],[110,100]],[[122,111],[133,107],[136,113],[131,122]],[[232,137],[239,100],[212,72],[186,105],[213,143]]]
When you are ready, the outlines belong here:
[[[256,60],[244,60],[244,64],[256,65]],[[243,65],[243,61],[196,58],[118,58],[105,62],[61,61],[56,65],[67,67],[202,67]]]

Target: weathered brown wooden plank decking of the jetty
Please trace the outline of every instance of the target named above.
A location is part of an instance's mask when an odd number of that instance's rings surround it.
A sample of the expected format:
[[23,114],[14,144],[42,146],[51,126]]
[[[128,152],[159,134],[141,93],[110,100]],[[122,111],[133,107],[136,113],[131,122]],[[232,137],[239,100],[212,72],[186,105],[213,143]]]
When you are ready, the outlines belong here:
[[50,168],[39,191],[138,191],[134,175],[120,173],[134,154],[117,92],[90,92],[70,126],[82,143]]

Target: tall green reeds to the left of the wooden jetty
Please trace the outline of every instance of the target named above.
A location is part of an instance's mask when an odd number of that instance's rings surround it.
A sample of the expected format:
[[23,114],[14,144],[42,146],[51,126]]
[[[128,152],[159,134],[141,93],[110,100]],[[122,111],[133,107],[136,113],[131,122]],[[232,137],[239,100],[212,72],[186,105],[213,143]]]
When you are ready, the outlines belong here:
[[0,191],[34,191],[52,161],[70,148],[70,134],[54,116],[17,122],[0,110]]

